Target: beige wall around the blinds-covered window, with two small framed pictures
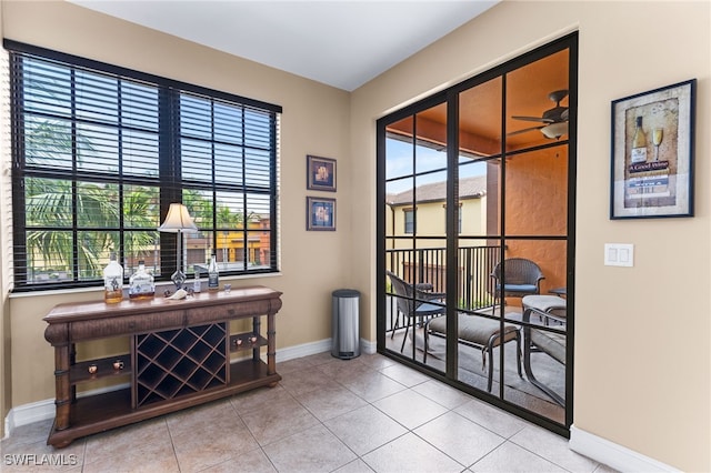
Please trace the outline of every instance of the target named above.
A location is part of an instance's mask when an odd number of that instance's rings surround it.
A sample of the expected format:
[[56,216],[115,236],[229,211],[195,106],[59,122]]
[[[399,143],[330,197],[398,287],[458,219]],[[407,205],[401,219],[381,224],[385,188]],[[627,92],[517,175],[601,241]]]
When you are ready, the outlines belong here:
[[[1,6],[6,38],[283,107],[282,274],[232,281],[232,284],[266,284],[283,291],[283,308],[277,325],[278,348],[329,339],[331,292],[352,283],[350,271],[342,271],[337,263],[341,255],[350,254],[349,93],[68,2],[2,1]],[[307,154],[338,160],[341,178],[338,192],[309,193],[338,199],[336,232],[306,231]],[[2,221],[7,221],[6,215]],[[53,352],[43,338],[42,316],[57,303],[101,296],[100,292],[92,291],[10,300],[1,325],[12,326],[11,333],[3,332],[12,340],[11,372],[2,373],[2,385],[9,386],[11,393],[3,406],[3,417],[12,406],[54,396]]]

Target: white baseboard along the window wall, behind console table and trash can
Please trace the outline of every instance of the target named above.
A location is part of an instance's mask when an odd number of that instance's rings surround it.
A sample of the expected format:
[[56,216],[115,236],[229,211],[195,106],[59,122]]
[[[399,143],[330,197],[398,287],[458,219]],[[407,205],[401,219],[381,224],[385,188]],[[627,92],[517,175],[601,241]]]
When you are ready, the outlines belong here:
[[[375,343],[364,339],[360,339],[361,352],[367,354],[375,353]],[[287,346],[277,352],[277,362],[294,360],[302,356],[309,356],[317,353],[331,351],[331,339],[319,340],[317,342],[304,343],[301,345]],[[120,384],[100,390],[87,391],[79,396],[101,394],[109,391],[117,391],[129,388],[129,384]],[[46,421],[54,416],[54,400],[47,399],[44,401],[32,402],[29,404],[12,407],[4,417],[6,439],[11,435],[16,427],[31,424],[33,422]]]

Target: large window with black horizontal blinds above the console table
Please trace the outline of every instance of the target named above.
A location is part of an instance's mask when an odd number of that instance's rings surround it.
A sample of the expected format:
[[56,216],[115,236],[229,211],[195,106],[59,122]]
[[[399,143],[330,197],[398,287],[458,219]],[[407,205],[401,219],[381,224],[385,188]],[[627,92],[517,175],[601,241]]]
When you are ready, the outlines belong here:
[[187,273],[211,251],[222,274],[278,271],[281,108],[12,41],[14,290],[100,283],[109,252],[126,278],[176,270],[171,202],[199,233]]

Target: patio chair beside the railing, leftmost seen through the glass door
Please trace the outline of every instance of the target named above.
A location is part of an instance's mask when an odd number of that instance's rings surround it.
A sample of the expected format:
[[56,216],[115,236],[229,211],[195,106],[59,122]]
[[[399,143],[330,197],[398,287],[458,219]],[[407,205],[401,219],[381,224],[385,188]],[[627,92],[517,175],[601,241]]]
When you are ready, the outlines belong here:
[[[408,332],[412,325],[412,333],[414,334],[414,328],[417,324],[422,324],[424,321],[434,315],[441,315],[447,313],[447,308],[443,304],[432,304],[431,302],[442,301],[445,296],[441,292],[432,292],[431,284],[410,284],[391,271],[387,271],[388,278],[392,284],[392,291],[395,295],[398,311],[404,316],[405,330],[402,338],[402,346],[400,353],[404,350],[404,343],[408,340]],[[393,330],[394,334],[394,330]],[[413,335],[414,340],[414,335]]]

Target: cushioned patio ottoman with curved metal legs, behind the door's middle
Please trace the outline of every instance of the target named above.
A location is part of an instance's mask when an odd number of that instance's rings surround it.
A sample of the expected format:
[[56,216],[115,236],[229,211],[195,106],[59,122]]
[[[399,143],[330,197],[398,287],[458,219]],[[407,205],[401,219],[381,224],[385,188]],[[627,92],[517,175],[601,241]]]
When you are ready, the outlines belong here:
[[[487,391],[491,392],[493,383],[493,349],[501,346],[503,343],[515,341],[517,368],[519,376],[523,378],[521,373],[521,332],[517,325],[504,323],[502,331],[500,321],[495,319],[459,312],[457,330],[458,343],[481,349],[482,370],[487,368],[487,354],[489,354]],[[445,316],[430,320],[424,328],[424,363],[427,363],[430,334],[447,336]]]

